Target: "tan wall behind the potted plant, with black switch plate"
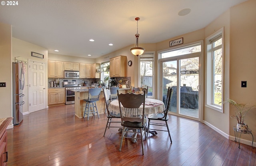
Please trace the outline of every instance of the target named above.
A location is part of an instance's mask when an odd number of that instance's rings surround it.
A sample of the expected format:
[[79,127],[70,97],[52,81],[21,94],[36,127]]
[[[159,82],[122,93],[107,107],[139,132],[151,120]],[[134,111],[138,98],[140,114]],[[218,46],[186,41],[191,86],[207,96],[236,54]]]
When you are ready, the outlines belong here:
[[[230,98],[238,103],[256,104],[256,0],[248,0],[230,8]],[[241,88],[241,81],[247,81],[247,88]],[[230,107],[230,115],[234,114]],[[245,122],[256,135],[256,109],[246,114]],[[230,119],[230,134],[236,121]],[[232,134],[233,135],[233,134]],[[250,134],[241,139],[249,140]]]

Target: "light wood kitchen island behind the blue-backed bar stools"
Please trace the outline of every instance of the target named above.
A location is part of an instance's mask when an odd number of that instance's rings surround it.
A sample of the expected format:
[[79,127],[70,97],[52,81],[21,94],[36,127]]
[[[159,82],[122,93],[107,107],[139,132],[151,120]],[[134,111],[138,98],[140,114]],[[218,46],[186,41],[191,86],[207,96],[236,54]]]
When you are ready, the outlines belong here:
[[[72,91],[75,92],[75,115],[78,118],[83,118],[84,116],[84,109],[86,106],[86,102],[84,99],[88,99],[88,88],[90,87],[83,87],[81,89],[74,89]],[[121,93],[126,93],[129,88],[120,88]],[[98,113],[103,114],[105,112],[106,104],[104,99],[103,90],[100,92],[100,100],[96,102]],[[87,117],[87,115],[85,115]]]

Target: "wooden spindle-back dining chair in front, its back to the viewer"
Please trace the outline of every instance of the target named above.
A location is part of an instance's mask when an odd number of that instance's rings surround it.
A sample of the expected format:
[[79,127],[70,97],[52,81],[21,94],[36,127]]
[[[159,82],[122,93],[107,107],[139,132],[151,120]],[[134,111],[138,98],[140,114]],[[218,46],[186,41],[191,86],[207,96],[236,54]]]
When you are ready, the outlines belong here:
[[[144,118],[145,93],[146,90],[144,90],[144,95],[134,93],[119,94],[118,92],[118,102],[122,120],[121,125],[123,126],[119,148],[120,152],[122,149],[123,138],[132,138],[134,140],[141,140],[142,155],[144,155],[143,136],[145,136],[146,140],[146,119]],[[143,108],[142,110],[139,110],[142,104]],[[128,133],[133,133],[134,135],[130,136]],[[140,134],[140,138],[137,138],[138,133]]]

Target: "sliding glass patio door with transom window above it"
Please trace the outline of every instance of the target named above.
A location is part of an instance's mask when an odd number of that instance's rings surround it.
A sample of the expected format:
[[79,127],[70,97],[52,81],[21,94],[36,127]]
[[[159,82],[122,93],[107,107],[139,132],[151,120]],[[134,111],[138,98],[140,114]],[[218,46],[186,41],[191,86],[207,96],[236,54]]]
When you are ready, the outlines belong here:
[[[193,47],[200,47],[200,45]],[[184,53],[184,50],[179,51]],[[162,57],[160,60],[162,100],[166,102],[168,87],[172,88],[173,95],[169,112],[200,120],[201,50],[197,48],[196,52],[184,54],[180,52],[160,54]],[[169,56],[166,56],[166,53],[169,53]]]

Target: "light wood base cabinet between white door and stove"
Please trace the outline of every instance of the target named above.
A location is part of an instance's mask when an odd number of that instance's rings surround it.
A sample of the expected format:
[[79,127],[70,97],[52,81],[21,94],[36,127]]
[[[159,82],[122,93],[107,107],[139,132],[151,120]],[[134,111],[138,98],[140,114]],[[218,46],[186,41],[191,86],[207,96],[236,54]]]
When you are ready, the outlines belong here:
[[48,89],[48,105],[65,104],[65,88]]

